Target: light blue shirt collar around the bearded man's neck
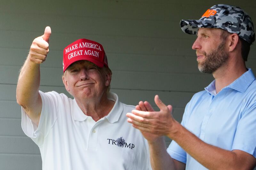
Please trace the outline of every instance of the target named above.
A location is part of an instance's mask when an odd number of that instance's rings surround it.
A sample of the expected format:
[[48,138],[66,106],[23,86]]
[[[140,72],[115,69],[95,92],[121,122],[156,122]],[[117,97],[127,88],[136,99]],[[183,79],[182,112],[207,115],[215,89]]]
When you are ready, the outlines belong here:
[[[248,71],[246,71],[242,76],[237,78],[235,81],[233,81],[230,85],[224,87],[224,88],[232,88],[239,92],[245,92],[246,89],[249,87],[249,85],[252,84],[252,82],[255,80],[255,76],[252,72],[252,70],[249,68]],[[215,80],[212,81],[210,85],[204,88],[208,93],[212,95],[214,94],[214,91],[216,91],[215,88]]]

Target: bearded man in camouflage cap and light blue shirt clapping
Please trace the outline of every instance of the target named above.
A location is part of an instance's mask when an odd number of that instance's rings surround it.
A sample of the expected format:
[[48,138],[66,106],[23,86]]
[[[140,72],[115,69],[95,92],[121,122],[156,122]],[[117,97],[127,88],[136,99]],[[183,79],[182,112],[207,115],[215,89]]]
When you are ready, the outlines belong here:
[[[253,169],[256,165],[256,80],[245,61],[255,40],[251,18],[239,7],[218,4],[199,20],[181,20],[181,29],[197,34],[198,68],[215,80],[196,93],[181,124],[172,106],[156,95],[155,112],[140,101],[128,122],[148,140],[151,164],[159,169]],[[163,138],[172,139],[167,151]]]

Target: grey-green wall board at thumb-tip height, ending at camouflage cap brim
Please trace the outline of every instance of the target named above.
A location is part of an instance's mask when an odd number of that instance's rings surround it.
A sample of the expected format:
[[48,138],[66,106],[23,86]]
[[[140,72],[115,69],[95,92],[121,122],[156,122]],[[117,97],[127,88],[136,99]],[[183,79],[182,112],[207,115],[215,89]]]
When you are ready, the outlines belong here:
[[[1,30],[12,30],[22,32],[42,32],[47,23],[52,28],[53,33],[76,33],[90,35],[109,35],[124,37],[159,37],[178,38],[184,33],[180,29],[179,21],[170,22],[158,20],[132,20],[121,18],[92,18],[86,16],[60,16],[45,14],[8,14],[0,12]],[[12,18],[17,18],[17,22],[9,22]],[[34,18],[41,18],[35,20]],[[50,18],[50,19],[49,19]],[[58,22],[56,22],[58,21]],[[27,22],[31,26],[20,27]],[[31,22],[31,23],[30,23]],[[33,24],[32,24],[33,23]],[[104,25],[104,26],[103,26]],[[74,30],[74,27],[76,28]],[[170,33],[170,29],[176,34]]]

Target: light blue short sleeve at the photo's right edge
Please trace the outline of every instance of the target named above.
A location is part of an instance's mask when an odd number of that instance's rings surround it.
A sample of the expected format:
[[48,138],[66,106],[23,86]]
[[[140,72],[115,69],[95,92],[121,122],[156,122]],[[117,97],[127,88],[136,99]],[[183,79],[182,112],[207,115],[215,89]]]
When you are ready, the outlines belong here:
[[241,150],[256,158],[256,102],[244,111],[239,120],[232,150]]

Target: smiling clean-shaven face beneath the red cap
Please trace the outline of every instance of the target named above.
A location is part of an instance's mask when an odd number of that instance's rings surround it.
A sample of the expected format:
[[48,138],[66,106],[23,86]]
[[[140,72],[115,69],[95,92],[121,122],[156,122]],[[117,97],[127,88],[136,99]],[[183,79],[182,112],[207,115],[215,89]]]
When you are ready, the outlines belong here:
[[101,98],[110,84],[110,77],[102,69],[88,61],[70,65],[62,77],[66,90],[76,99]]

